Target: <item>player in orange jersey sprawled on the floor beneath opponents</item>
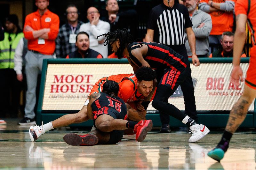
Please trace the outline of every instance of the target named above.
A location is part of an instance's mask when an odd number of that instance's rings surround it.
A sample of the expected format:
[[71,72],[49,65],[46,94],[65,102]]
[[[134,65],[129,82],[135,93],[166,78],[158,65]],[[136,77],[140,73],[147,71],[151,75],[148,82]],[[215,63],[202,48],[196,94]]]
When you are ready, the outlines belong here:
[[[136,72],[136,74],[119,74],[100,79],[92,88],[91,93],[102,92],[102,86],[106,80],[113,80],[119,83],[120,90],[118,96],[128,103],[127,111],[129,112],[129,120],[140,121],[145,118],[146,110],[153,94],[153,80],[156,74],[150,68],[144,67]],[[143,100],[142,103],[141,100]],[[88,100],[85,101],[84,107],[76,114],[63,115],[60,118],[46,123],[41,126],[31,126],[29,128],[29,136],[32,142],[45,132],[59,127],[65,127],[72,123],[81,123],[89,120],[87,114]],[[130,106],[131,105],[131,106]],[[136,108],[137,107],[137,108]],[[139,110],[140,112],[134,110]]]

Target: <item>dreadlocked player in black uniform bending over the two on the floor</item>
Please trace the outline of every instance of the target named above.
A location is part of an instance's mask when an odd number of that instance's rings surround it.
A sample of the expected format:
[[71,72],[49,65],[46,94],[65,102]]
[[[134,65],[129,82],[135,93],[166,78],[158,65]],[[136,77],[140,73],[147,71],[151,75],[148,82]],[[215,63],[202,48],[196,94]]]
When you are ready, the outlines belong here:
[[150,67],[156,70],[158,84],[152,106],[187,124],[190,128],[189,133],[193,133],[188,142],[196,142],[210,132],[206,126],[197,124],[195,120],[181,112],[177,107],[165,102],[189,74],[187,57],[183,57],[163,44],[132,42],[132,36],[127,29],[117,29],[112,33],[103,35],[107,36],[105,45],[110,43],[112,51],[116,53],[119,59],[125,55],[134,72],[140,67]]

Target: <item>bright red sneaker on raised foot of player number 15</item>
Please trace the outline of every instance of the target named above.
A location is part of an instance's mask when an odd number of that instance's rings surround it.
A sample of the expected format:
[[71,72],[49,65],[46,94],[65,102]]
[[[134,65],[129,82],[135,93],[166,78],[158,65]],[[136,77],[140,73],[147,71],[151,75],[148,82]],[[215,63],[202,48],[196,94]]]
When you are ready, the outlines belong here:
[[133,129],[134,133],[136,133],[136,141],[142,142],[152,127],[152,120],[141,120],[138,124],[136,124]]

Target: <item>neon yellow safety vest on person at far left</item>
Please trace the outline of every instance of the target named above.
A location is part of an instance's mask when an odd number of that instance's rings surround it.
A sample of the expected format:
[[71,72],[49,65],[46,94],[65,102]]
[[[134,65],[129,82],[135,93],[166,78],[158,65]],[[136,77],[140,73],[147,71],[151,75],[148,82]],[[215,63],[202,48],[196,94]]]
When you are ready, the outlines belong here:
[[0,69],[13,69],[14,54],[18,43],[24,34],[4,33],[4,40],[0,41]]

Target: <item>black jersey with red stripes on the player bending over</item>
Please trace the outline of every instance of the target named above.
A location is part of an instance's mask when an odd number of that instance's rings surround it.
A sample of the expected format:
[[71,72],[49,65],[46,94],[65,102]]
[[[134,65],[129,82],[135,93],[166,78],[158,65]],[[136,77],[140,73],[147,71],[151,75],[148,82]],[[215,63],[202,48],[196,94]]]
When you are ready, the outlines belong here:
[[[138,45],[137,45],[138,44]],[[142,47],[141,44],[148,46],[148,52],[143,58],[148,62],[153,70],[175,69],[183,71],[188,67],[188,58],[183,57],[175,52],[172,48],[156,42],[133,42],[128,45],[127,49],[130,58],[141,67],[140,61],[132,55],[132,50]],[[132,47],[133,45],[137,45]]]

